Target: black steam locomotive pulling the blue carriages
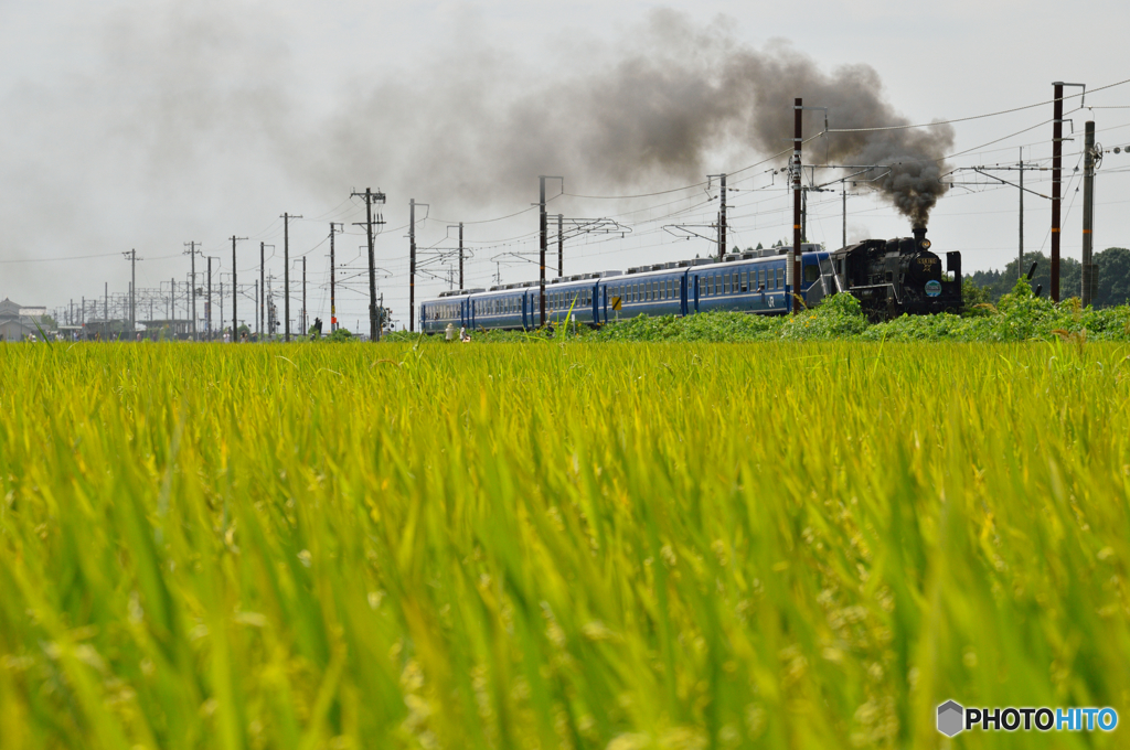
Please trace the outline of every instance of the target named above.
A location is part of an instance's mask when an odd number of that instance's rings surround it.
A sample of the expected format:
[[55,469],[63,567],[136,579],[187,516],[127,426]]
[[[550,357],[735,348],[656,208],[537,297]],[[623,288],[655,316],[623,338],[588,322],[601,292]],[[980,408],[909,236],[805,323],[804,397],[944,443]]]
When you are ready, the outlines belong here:
[[859,299],[871,320],[962,309],[962,254],[946,253],[942,270],[925,229],[913,232],[913,237],[864,239],[828,253],[838,290]]

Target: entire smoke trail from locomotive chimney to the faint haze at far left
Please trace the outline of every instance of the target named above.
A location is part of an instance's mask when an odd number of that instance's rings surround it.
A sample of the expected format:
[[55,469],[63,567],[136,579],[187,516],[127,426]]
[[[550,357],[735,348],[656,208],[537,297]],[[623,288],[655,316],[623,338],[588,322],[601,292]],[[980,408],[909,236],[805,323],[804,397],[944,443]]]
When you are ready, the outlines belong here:
[[[695,183],[789,148],[797,96],[828,107],[833,129],[907,123],[869,66],[824,71],[786,43],[753,47],[724,19],[671,10],[612,43],[547,42],[532,60],[468,24],[403,70],[350,62],[356,78],[344,80],[341,66],[311,72],[282,41],[285,21],[250,23],[259,6],[163,8],[111,16],[103,69],[56,96],[84,102],[81,114],[25,108],[11,119],[38,123],[25,128],[29,141],[36,128],[66,124],[70,138],[26,151],[62,159],[69,149],[87,167],[101,159],[101,178],[114,184],[207,184],[182,197],[202,215],[251,210],[249,189],[277,207],[295,189],[336,204],[351,186],[381,186],[451,217],[527,204],[539,174],[590,194]],[[316,98],[295,82],[304,76],[322,77]],[[806,137],[823,127],[823,113],[806,113]],[[805,147],[805,162],[885,165],[858,180],[922,225],[945,190],[953,138],[947,125],[829,133]]]

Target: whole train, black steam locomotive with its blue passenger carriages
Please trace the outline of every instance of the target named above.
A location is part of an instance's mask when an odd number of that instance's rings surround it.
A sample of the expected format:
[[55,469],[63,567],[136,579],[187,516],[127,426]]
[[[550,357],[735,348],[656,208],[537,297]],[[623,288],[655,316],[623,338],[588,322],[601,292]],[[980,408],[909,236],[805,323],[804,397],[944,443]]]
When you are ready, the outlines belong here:
[[[793,294],[789,247],[560,277],[546,282],[546,320],[566,315],[592,326],[637,315],[694,315],[738,311],[784,315]],[[797,294],[812,307],[828,295],[855,296],[871,320],[903,313],[958,312],[962,254],[930,252],[925,229],[913,237],[866,239],[835,251],[801,245]],[[454,328],[529,330],[540,325],[538,281],[489,289],[455,289],[420,305],[425,333]]]

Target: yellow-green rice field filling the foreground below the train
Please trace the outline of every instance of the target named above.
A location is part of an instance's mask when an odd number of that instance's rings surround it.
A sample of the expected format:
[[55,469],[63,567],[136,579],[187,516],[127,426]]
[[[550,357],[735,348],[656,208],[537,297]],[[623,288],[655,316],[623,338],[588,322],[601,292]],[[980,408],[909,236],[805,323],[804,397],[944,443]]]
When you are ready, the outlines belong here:
[[0,748],[1125,747],[1130,346],[0,345]]

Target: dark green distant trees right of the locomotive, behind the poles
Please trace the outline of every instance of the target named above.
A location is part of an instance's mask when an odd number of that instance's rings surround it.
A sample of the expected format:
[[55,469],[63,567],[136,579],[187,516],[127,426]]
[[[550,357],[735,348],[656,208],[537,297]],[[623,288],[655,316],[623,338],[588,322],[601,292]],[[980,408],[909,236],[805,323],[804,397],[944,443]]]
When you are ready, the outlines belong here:
[[[1016,279],[1026,274],[1032,263],[1037,263],[1036,273],[1032,277],[1032,288],[1043,287],[1043,295],[1051,289],[1051,260],[1043,253],[1025,253],[1020,272],[1014,260],[1002,271],[977,271],[966,273],[963,291],[967,302],[991,302],[997,304],[1000,298],[1012,290]],[[1098,290],[1095,294],[1095,307],[1113,307],[1130,302],[1130,250],[1125,247],[1107,247],[1095,253],[1098,265]],[[1081,293],[1083,263],[1074,258],[1060,259],[1060,298],[1078,297]]]

